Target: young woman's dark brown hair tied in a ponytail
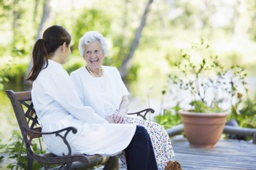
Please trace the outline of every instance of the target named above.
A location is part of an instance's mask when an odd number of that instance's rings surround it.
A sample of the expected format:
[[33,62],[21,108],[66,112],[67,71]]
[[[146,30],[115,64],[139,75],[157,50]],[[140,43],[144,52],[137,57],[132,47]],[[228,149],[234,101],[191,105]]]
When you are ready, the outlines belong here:
[[32,51],[33,67],[26,80],[34,81],[42,68],[47,68],[50,55],[66,42],[67,46],[71,42],[71,36],[67,30],[61,26],[51,26],[44,31],[43,38],[35,42]]

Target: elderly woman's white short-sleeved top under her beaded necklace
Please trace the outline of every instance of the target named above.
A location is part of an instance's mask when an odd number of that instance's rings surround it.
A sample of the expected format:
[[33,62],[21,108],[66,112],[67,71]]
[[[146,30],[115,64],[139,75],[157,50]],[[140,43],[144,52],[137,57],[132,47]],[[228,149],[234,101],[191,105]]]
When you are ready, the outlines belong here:
[[83,104],[105,118],[118,111],[122,96],[129,93],[117,68],[104,65],[102,68],[102,77],[92,77],[84,66],[73,71],[70,77]]

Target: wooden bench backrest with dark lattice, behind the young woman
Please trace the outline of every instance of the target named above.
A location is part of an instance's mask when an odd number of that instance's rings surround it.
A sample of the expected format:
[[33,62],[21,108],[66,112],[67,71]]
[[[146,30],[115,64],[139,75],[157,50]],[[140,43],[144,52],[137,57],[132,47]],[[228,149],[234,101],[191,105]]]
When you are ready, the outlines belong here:
[[27,152],[28,154],[33,155],[31,141],[34,138],[41,137],[41,135],[30,133],[25,129],[25,127],[28,127],[31,130],[36,130],[37,132],[41,132],[41,127],[38,124],[38,117],[35,114],[35,109],[31,101],[31,91],[15,93],[12,90],[7,90],[6,94],[12,102],[12,107],[15,112]]

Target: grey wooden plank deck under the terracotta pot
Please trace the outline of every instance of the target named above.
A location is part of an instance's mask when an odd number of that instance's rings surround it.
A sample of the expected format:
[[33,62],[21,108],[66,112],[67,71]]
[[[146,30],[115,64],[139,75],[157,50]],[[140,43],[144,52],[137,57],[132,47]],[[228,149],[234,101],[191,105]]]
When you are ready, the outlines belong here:
[[220,140],[215,148],[189,146],[182,135],[171,138],[175,160],[183,170],[256,170],[256,144]]

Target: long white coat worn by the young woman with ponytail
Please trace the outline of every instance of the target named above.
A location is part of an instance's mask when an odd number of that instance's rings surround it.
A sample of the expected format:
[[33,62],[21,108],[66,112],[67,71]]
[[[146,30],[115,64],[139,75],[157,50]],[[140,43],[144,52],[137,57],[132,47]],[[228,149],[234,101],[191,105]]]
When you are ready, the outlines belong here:
[[[125,149],[136,125],[109,124],[90,106],[83,105],[62,65],[50,59],[48,62],[47,68],[42,69],[33,82],[31,91],[42,131],[76,127],[78,132],[67,136],[72,154],[112,156]],[[67,154],[67,146],[60,137],[44,135],[43,139],[52,153]]]

